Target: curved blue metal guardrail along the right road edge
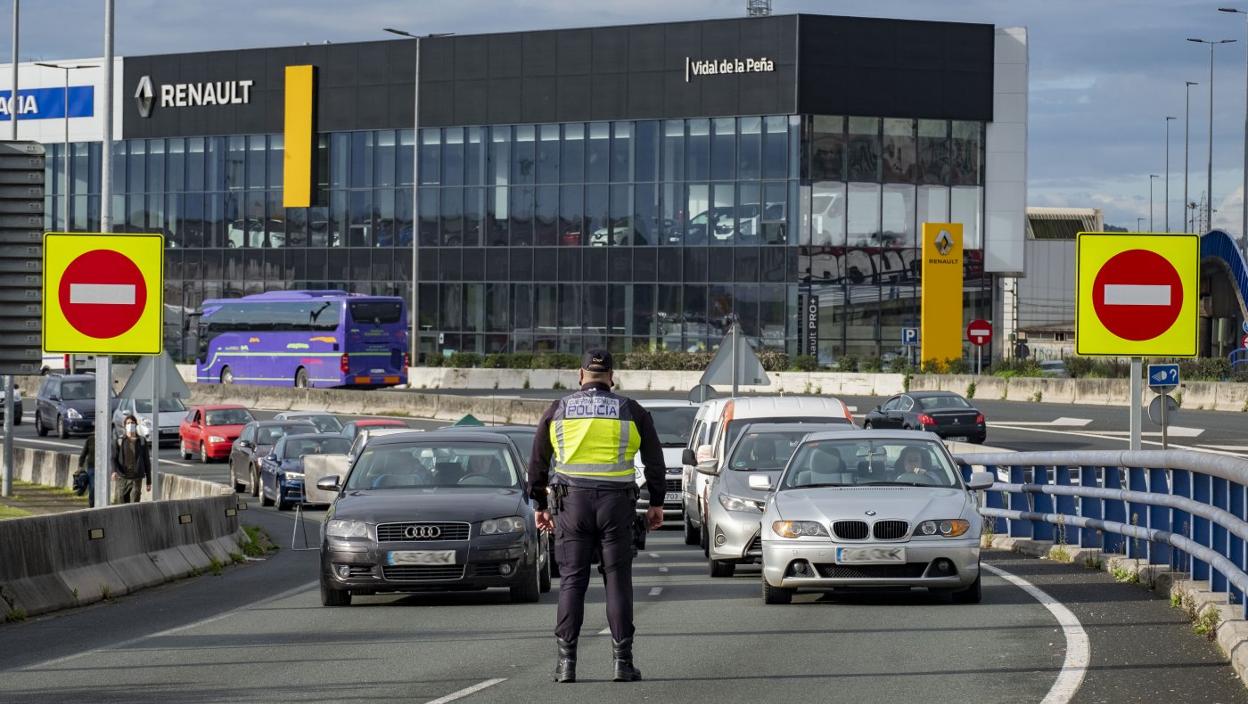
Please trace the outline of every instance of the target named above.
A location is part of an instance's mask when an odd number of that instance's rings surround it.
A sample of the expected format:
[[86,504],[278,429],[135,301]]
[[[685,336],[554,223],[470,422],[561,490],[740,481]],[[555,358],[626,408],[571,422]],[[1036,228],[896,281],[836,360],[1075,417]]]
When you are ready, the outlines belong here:
[[1248,459],[1161,449],[982,453],[957,462],[967,479],[973,467],[998,478],[980,508],[996,533],[1189,572],[1248,618]]

